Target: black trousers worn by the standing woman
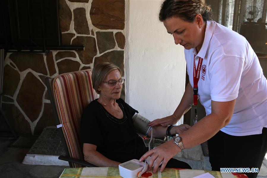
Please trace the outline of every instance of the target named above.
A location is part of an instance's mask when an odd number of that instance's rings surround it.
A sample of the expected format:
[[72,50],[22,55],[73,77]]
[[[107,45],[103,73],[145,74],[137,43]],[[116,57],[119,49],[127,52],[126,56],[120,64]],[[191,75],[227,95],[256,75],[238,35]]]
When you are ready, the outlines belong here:
[[[220,168],[259,168],[267,151],[267,128],[262,134],[232,136],[219,131],[208,140],[212,171]],[[244,173],[256,178],[258,173]]]

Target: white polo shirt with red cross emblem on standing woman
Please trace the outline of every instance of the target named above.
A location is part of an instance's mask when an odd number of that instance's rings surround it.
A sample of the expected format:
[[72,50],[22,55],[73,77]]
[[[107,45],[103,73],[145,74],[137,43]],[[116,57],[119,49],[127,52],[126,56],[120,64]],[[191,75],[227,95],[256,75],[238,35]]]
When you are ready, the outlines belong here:
[[262,128],[267,127],[267,80],[247,40],[215,21],[207,21],[199,53],[195,49],[185,49],[192,87],[193,61],[197,67],[199,57],[203,62],[198,96],[206,115],[211,113],[211,100],[236,99],[233,117],[221,131],[234,136],[261,134]]

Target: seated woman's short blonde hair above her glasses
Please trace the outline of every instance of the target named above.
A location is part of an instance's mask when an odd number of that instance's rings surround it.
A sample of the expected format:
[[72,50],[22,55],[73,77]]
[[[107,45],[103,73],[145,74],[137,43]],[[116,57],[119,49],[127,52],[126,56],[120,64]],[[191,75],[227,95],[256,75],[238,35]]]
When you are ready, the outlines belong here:
[[104,82],[104,79],[107,77],[109,72],[113,70],[119,70],[120,75],[121,75],[121,70],[119,69],[118,66],[112,64],[112,63],[99,63],[94,66],[93,71],[92,71],[92,83],[93,83],[93,88],[96,90],[96,93],[99,94],[99,91],[97,90],[99,85]]

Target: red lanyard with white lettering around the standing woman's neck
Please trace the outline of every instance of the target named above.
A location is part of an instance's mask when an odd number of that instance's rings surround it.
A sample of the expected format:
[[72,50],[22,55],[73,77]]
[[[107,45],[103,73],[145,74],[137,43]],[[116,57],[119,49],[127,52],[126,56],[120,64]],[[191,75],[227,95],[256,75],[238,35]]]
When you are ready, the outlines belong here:
[[198,80],[199,80],[199,76],[200,76],[200,69],[201,69],[203,58],[199,57],[198,68],[196,69],[195,57],[196,57],[196,55],[194,55],[194,59],[193,59],[193,63],[194,63],[194,68],[193,68],[194,87],[193,87],[193,91],[194,91],[194,105],[198,105]]

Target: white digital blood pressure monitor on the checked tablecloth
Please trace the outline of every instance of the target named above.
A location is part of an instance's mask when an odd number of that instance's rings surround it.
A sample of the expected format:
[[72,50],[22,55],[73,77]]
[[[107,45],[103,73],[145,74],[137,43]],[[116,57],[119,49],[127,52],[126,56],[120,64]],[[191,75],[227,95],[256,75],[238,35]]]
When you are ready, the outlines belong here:
[[143,170],[147,170],[147,163],[139,162],[139,160],[133,159],[119,165],[120,176],[123,178],[136,178],[137,174]]

